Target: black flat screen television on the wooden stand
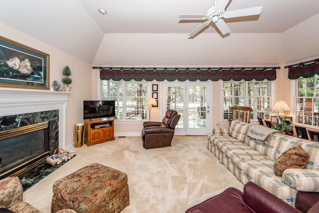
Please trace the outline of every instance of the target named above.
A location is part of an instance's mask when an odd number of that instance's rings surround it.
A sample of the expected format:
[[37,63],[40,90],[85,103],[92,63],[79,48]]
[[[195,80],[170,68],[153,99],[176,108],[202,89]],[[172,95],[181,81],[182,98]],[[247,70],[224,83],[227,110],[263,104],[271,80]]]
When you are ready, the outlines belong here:
[[83,120],[115,117],[115,101],[83,101]]

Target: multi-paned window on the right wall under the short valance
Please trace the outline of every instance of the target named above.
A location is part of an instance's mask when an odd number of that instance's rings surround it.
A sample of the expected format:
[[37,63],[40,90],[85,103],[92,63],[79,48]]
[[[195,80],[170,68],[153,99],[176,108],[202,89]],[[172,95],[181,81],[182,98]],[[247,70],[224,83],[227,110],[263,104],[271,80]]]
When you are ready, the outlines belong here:
[[319,75],[297,80],[296,123],[319,127]]

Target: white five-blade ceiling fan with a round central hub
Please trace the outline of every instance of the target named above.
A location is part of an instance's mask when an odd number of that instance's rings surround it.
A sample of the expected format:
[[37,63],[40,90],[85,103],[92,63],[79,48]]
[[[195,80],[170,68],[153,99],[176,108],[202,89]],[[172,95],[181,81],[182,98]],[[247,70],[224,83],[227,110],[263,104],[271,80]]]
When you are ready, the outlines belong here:
[[245,9],[238,9],[232,11],[225,11],[225,7],[227,6],[230,0],[215,0],[215,6],[208,9],[207,14],[181,14],[179,18],[184,20],[205,20],[204,23],[199,25],[196,29],[194,29],[189,36],[194,36],[197,32],[202,30],[205,26],[209,25],[212,21],[215,23],[216,27],[220,30],[220,32],[225,35],[229,33],[231,30],[225,23],[222,18],[234,18],[240,16],[249,16],[249,15],[259,15],[261,13],[262,6],[250,7]]

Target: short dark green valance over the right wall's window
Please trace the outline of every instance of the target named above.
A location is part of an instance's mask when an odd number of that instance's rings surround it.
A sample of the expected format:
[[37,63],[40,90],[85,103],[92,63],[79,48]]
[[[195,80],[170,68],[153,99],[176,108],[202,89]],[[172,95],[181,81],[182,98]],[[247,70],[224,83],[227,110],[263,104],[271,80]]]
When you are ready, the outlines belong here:
[[319,74],[319,59],[285,66],[285,68],[288,68],[289,79],[298,79],[300,76],[309,78],[315,74]]

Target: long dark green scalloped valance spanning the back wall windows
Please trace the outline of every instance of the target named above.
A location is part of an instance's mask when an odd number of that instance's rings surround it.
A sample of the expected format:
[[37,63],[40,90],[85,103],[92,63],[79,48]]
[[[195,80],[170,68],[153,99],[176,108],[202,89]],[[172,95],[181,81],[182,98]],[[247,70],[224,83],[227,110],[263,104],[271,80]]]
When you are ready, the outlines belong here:
[[218,81],[242,79],[258,81],[267,79],[276,79],[276,69],[280,67],[198,67],[198,68],[180,68],[180,67],[93,67],[100,69],[100,78],[102,80],[146,80],[146,81]]

